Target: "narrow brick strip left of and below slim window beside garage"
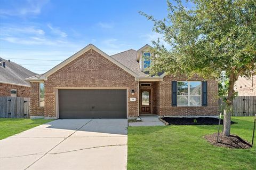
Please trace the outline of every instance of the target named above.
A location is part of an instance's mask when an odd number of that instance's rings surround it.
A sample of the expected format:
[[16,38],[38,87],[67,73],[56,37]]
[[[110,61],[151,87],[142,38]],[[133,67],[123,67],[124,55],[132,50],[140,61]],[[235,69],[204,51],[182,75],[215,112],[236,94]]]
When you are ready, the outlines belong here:
[[30,116],[44,116],[44,107],[39,107],[39,83],[31,82]]

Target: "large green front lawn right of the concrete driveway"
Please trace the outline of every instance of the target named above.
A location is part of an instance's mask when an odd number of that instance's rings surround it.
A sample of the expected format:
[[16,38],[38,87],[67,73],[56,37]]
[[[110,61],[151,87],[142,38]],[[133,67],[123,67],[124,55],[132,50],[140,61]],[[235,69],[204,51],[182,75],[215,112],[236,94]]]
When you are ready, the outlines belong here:
[[[238,124],[231,125],[231,134],[251,142],[253,117],[232,120]],[[127,169],[255,169],[256,146],[215,147],[203,136],[217,130],[217,125],[129,127]]]

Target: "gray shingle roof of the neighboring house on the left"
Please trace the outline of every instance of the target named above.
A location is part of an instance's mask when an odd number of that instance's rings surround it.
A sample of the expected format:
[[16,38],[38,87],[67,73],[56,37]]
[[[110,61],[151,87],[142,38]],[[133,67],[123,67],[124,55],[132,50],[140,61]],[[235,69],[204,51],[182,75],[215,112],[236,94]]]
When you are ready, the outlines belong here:
[[30,86],[30,83],[26,82],[25,78],[37,75],[35,72],[29,71],[15,62],[8,62],[8,60],[2,59],[3,62],[5,62],[6,67],[0,66],[0,83]]

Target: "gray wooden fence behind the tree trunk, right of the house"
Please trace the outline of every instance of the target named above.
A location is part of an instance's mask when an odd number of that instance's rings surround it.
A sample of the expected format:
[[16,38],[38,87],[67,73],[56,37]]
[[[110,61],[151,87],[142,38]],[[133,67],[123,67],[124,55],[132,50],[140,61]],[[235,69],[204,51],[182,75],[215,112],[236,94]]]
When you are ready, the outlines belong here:
[[[223,114],[226,103],[219,100],[219,110]],[[256,114],[256,96],[236,96],[233,100],[232,116],[254,116]]]

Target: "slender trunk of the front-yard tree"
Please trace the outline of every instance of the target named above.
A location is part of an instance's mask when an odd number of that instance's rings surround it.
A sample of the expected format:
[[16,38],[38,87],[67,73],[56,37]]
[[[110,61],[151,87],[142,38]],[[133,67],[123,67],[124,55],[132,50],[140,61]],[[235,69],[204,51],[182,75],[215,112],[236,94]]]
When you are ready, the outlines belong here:
[[226,109],[224,111],[224,127],[223,127],[223,135],[230,136],[230,123],[231,123],[231,112],[233,110],[233,98],[235,94],[234,85],[238,76],[235,74],[230,74],[229,76],[229,87],[228,87],[228,96],[226,101]]

